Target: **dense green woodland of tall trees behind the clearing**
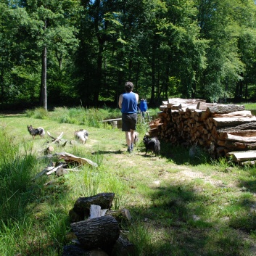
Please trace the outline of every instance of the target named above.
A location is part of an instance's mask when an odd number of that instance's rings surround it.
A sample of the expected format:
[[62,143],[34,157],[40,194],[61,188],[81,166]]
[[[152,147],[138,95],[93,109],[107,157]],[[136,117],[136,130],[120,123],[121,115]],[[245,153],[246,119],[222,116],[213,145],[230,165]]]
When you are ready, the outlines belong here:
[[253,0],[0,0],[0,108],[256,99]]

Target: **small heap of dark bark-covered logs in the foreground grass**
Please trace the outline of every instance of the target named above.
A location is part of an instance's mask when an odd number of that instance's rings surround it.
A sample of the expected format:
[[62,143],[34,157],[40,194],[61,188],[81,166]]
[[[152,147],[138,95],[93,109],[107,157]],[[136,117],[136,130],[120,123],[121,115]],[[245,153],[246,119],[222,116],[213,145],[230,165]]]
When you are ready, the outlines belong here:
[[131,220],[127,209],[110,210],[114,193],[79,197],[70,220],[73,244],[63,248],[62,256],[134,255],[135,246],[122,235],[122,225]]

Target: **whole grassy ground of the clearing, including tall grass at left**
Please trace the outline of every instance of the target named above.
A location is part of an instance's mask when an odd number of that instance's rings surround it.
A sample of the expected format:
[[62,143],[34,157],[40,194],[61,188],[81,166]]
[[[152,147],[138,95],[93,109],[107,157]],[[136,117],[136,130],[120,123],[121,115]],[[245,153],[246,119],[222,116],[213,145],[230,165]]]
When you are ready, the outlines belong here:
[[[122,233],[138,256],[256,255],[255,167],[210,160],[201,150],[191,159],[189,149],[165,141],[160,157],[145,155],[144,124],[128,154],[124,133],[99,122],[117,112],[102,111],[59,108],[0,116],[0,255],[62,255],[73,237],[68,213],[76,199],[100,192],[114,192],[113,209],[131,212]],[[63,132],[67,141],[85,128],[85,145],[54,145],[54,153],[86,157],[99,167],[34,180],[49,165],[41,157],[51,139],[46,134],[33,140],[30,124],[56,137]]]

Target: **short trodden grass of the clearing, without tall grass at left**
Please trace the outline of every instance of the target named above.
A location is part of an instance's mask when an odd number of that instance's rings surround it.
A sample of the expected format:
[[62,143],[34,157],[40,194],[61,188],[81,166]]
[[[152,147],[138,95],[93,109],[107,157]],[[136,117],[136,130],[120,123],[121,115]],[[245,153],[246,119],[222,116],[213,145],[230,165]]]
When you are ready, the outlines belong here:
[[[67,140],[85,128],[86,145],[55,150],[102,159],[95,191],[115,192],[114,207],[130,210],[132,221],[123,231],[129,231],[125,234],[136,244],[136,255],[256,255],[255,168],[241,169],[226,160],[208,162],[202,152],[191,160],[187,149],[164,142],[160,157],[145,155],[142,136],[128,154],[124,133],[108,126],[88,128],[22,115],[0,117],[0,124],[17,143],[33,144],[38,154],[49,138],[32,140],[27,125],[44,127],[54,136],[63,131]],[[70,191],[85,182],[84,177],[75,178],[70,174],[66,181]],[[68,196],[67,214],[77,194]]]

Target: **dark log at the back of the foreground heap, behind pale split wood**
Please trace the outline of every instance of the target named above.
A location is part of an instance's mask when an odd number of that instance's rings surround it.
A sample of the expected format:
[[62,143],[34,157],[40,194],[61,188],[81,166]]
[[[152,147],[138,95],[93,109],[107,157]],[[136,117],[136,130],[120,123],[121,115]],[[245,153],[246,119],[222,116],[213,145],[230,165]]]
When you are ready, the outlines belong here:
[[114,193],[100,193],[92,197],[79,197],[75,202],[73,210],[78,213],[82,219],[88,218],[91,205],[99,205],[102,209],[110,209],[114,197]]

